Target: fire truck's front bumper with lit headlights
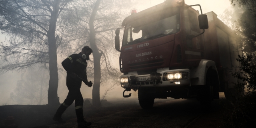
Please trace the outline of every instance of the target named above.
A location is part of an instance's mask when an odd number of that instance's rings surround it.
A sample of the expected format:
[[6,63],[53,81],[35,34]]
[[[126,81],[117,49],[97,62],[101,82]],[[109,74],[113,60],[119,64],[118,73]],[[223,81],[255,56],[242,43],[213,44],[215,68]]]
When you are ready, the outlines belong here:
[[[175,79],[165,80],[164,74],[167,72],[190,72],[189,69],[176,69],[176,70],[165,70],[159,72],[161,74],[160,82],[156,85],[150,80],[150,74],[146,75],[122,75],[120,78],[128,78],[128,82],[120,83],[122,88],[138,88],[138,87],[178,87],[178,86],[190,86],[190,76],[187,79]],[[131,77],[132,76],[132,77]],[[135,77],[134,77],[135,76]],[[131,78],[136,78],[132,80]],[[139,78],[146,78],[145,80],[138,80]],[[148,79],[149,78],[149,79]]]

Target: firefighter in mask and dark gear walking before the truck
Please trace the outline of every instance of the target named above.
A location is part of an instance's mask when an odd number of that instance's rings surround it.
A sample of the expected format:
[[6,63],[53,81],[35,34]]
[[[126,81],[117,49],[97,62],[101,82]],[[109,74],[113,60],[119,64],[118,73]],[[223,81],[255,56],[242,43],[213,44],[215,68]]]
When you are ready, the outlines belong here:
[[[82,48],[82,52],[79,54],[72,54],[66,58],[61,64],[67,71],[66,85],[68,87],[68,96],[64,102],[58,108],[53,120],[64,123],[61,115],[75,100],[76,117],[78,122],[78,128],[83,128],[91,125],[91,122],[86,122],[83,115],[83,97],[80,92],[82,81],[88,86],[92,86],[92,82],[88,82],[86,75],[86,60],[89,60],[89,56],[92,53],[92,49],[88,46]],[[82,80],[82,79],[83,80]]]

